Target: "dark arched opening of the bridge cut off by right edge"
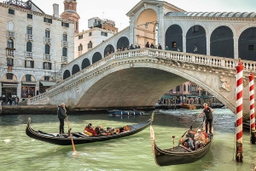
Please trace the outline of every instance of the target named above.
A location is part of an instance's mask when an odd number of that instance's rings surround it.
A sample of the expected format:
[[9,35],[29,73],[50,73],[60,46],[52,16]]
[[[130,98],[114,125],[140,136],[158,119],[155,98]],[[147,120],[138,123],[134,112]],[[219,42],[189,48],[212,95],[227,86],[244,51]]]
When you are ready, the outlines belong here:
[[242,31],[238,40],[238,51],[242,60],[256,60],[256,27]]

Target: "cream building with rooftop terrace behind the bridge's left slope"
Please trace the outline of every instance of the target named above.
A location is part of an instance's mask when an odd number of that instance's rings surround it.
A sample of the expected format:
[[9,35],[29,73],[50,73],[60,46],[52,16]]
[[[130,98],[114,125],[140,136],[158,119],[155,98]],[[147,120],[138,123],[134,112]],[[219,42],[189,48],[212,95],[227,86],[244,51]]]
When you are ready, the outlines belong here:
[[[91,48],[104,42],[118,32],[113,20],[102,20],[94,17],[88,20],[89,30],[81,31],[74,37],[74,57],[78,58],[81,54],[86,53]],[[104,53],[112,53],[114,48],[109,46]]]

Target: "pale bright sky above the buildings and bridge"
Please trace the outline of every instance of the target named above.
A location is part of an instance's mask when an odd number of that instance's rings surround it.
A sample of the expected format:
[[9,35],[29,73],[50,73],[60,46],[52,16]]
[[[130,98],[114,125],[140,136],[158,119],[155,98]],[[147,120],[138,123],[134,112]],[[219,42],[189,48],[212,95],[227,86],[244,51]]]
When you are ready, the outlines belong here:
[[[64,0],[32,0],[45,14],[53,14],[53,3],[60,5],[60,14],[64,11]],[[88,20],[93,17],[114,20],[119,31],[129,26],[126,14],[140,0],[77,0],[77,12],[80,15],[79,31],[88,29]],[[256,0],[166,0],[188,12],[256,12]]]

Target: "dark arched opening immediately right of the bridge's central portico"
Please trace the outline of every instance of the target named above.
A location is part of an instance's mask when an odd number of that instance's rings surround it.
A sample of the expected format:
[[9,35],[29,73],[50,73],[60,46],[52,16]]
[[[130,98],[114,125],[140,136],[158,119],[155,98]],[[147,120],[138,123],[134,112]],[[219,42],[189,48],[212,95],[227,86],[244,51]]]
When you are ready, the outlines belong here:
[[166,31],[166,46],[172,51],[183,52],[183,30],[180,26],[169,26]]

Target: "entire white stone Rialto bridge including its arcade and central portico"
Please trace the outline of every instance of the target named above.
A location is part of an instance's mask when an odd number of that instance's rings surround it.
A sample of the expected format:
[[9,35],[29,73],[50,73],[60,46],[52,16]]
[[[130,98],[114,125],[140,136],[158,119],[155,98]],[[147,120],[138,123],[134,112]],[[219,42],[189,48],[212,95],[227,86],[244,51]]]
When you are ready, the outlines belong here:
[[[153,106],[170,88],[191,81],[236,109],[236,64],[244,66],[244,112],[249,112],[248,74],[255,72],[255,13],[188,13],[170,3],[143,0],[131,9],[130,26],[70,61],[63,81],[28,101],[62,102],[77,110]],[[160,43],[162,50],[144,48]],[[140,49],[116,52],[139,44]],[[170,50],[164,50],[168,46]],[[106,57],[108,52],[113,52]]]

